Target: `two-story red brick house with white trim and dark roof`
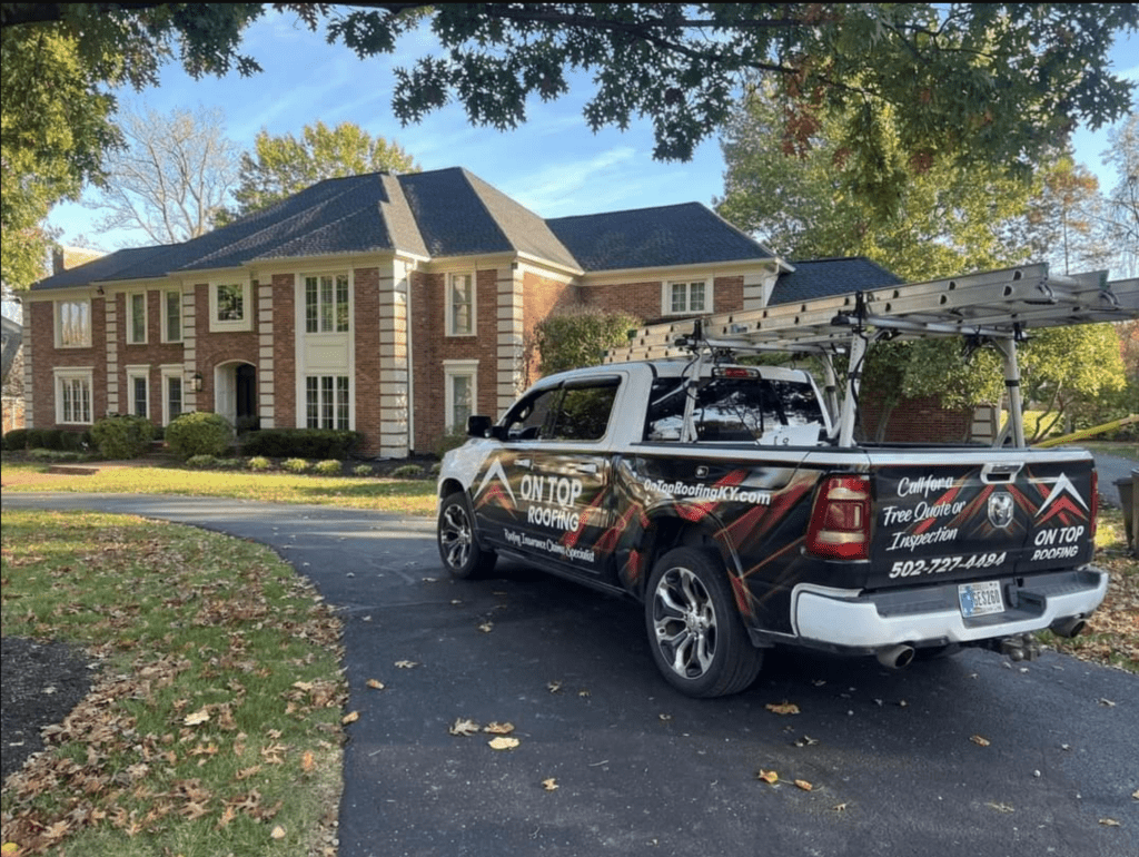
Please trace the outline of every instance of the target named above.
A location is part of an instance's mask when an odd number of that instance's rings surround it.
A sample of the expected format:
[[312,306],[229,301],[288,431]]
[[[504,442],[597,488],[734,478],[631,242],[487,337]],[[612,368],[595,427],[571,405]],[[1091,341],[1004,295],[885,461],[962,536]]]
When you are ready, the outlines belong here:
[[402,457],[510,405],[558,309],[659,319],[887,281],[866,260],[793,266],[698,203],[543,220],[459,168],[329,179],[35,284],[27,425],[212,410]]

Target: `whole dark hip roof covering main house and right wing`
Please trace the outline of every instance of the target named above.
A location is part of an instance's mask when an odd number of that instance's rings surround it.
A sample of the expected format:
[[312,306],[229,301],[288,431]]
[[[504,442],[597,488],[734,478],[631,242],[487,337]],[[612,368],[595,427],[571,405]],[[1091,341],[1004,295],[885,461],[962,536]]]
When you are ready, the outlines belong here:
[[121,250],[33,288],[385,250],[419,256],[524,253],[587,271],[771,258],[698,203],[546,221],[478,177],[451,168],[327,179],[198,238]]

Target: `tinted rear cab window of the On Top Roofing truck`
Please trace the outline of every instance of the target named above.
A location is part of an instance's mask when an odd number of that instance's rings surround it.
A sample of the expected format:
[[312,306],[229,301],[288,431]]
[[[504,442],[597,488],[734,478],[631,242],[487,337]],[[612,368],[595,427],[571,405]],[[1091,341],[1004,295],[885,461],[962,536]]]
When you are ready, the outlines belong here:
[[[645,440],[680,440],[687,378],[657,378],[649,394]],[[822,410],[810,384],[768,378],[707,378],[696,390],[693,408],[700,441],[769,441],[780,426],[823,426]]]

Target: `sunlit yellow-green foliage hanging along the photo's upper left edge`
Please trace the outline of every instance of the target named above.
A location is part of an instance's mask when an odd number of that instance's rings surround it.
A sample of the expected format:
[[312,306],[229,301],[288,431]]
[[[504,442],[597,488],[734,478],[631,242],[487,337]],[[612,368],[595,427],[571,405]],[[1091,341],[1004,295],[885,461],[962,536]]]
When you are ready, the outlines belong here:
[[[84,65],[75,40],[51,28],[0,33],[0,276],[24,288],[44,274],[51,206],[101,177],[118,133],[114,100]],[[116,79],[114,68],[108,75]]]

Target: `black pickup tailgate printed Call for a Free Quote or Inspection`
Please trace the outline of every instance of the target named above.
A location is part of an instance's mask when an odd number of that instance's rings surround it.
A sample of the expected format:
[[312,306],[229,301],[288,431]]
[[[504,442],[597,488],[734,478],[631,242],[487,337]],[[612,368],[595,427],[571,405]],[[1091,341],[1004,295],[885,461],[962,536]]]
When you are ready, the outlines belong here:
[[1091,560],[1082,450],[871,454],[870,588],[1070,569]]

